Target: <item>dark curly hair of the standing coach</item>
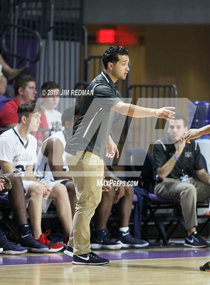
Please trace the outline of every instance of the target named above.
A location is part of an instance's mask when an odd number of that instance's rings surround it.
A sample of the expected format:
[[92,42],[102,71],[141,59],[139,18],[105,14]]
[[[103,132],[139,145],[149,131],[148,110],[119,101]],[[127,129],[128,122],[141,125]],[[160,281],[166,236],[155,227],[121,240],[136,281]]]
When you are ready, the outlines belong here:
[[116,63],[117,61],[119,61],[118,55],[128,55],[128,51],[121,47],[121,46],[110,46],[108,47],[102,57],[102,62],[103,62],[103,66],[105,69],[107,69],[107,64],[108,62],[114,62]]

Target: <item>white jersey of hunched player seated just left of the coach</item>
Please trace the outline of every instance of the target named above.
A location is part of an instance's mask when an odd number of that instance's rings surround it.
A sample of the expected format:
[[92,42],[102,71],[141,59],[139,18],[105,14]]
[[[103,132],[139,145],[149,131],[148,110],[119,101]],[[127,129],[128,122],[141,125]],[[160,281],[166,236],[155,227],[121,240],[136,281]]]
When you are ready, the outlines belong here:
[[62,154],[62,168],[63,171],[68,171],[68,166],[67,163],[65,161],[65,155],[64,155],[64,148],[65,148],[65,137],[62,131],[56,132],[53,135],[51,135],[50,137],[48,137],[42,144],[41,147],[38,151],[38,155],[37,155],[37,163],[35,165],[35,175],[39,180],[51,180],[54,181],[53,175],[51,173],[50,167],[49,167],[49,163],[48,163],[48,157],[44,156],[41,148],[42,145],[49,139],[51,138],[57,138],[61,141],[62,145],[63,145],[63,154]]

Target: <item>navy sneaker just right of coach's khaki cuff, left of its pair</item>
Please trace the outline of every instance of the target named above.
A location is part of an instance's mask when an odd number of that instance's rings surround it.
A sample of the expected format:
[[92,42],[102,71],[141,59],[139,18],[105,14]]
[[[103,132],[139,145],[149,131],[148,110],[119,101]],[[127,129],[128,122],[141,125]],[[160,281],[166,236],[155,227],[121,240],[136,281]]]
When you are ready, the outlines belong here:
[[120,249],[122,246],[111,240],[105,229],[101,229],[96,231],[94,236],[90,237],[90,247],[91,249]]

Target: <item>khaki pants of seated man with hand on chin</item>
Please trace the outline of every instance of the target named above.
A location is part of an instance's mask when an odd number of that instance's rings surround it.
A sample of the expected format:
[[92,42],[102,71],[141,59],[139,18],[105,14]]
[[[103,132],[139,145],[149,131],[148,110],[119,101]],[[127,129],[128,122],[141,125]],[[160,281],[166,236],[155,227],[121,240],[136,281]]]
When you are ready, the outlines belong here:
[[197,226],[196,202],[210,199],[210,185],[193,178],[189,178],[189,182],[165,178],[154,188],[156,195],[180,202],[186,229]]

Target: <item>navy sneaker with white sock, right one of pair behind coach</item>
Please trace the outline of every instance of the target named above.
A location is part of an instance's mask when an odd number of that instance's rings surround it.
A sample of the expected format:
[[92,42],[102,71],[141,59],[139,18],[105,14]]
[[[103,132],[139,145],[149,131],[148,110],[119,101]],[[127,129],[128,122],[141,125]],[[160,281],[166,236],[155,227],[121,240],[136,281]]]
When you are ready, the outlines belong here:
[[119,230],[116,242],[122,247],[145,247],[149,245],[148,241],[132,237],[129,229],[125,232]]

